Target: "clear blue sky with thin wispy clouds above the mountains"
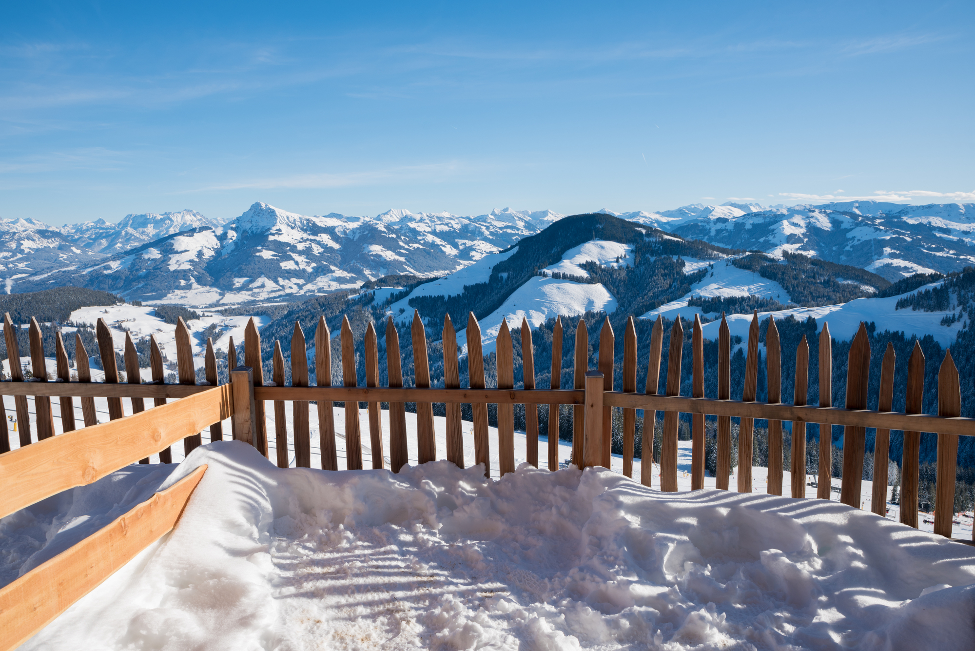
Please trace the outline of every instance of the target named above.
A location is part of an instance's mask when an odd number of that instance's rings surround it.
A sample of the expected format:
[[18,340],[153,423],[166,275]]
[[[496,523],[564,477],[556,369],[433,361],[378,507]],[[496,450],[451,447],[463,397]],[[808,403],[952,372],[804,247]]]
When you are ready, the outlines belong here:
[[0,5],[0,216],[975,201],[975,4]]

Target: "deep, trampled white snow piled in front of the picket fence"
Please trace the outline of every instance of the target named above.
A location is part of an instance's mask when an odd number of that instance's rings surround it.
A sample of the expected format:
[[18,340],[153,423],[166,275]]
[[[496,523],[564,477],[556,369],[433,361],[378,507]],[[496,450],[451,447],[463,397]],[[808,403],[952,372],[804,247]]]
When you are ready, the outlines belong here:
[[23,648],[975,647],[971,548],[835,502],[574,468],[284,471],[237,441],[163,487],[203,463],[176,530]]

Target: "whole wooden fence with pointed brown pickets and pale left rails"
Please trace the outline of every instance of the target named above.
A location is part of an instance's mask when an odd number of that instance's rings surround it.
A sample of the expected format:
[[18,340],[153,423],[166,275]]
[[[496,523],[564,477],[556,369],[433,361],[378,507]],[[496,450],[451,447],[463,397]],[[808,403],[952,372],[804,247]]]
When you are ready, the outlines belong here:
[[[75,369],[77,379],[70,374],[68,357],[61,335],[56,340],[55,358],[58,378],[51,381],[45,364],[45,351],[40,326],[31,320],[29,341],[33,378],[25,380],[20,369],[20,351],[13,324],[5,317],[4,333],[10,361],[11,381],[0,382],[0,396],[13,396],[18,414],[20,449],[10,451],[9,432],[5,407],[0,402],[0,517],[8,516],[41,499],[73,486],[85,485],[112,473],[129,463],[139,460],[148,463],[151,454],[158,453],[163,463],[172,461],[170,446],[183,440],[184,451],[189,453],[201,444],[200,432],[210,428],[211,440],[223,438],[221,422],[230,418],[232,437],[244,440],[264,455],[268,454],[264,402],[273,403],[275,413],[276,461],[279,466],[289,465],[286,426],[286,402],[292,402],[292,443],[295,464],[311,465],[309,427],[310,403],[315,402],[319,420],[319,442],[322,467],[338,470],[332,402],[357,404],[367,402],[369,437],[372,449],[372,467],[381,469],[384,464],[383,437],[380,420],[380,402],[389,403],[389,458],[393,472],[408,463],[406,402],[416,403],[416,437],[418,461],[425,463],[436,459],[432,404],[446,404],[447,458],[463,467],[463,439],[461,429],[461,403],[470,403],[473,413],[473,442],[475,464],[484,464],[488,472],[488,425],[487,404],[497,404],[497,432],[499,471],[503,476],[515,470],[514,454],[514,405],[526,405],[526,456],[536,467],[538,461],[538,411],[539,404],[548,404],[550,410],[559,405],[573,405],[572,463],[580,468],[603,466],[610,463],[610,426],[613,408],[623,409],[623,473],[633,475],[636,410],[643,409],[646,422],[656,420],[656,412],[663,412],[663,429],[660,455],[660,484],[664,491],[678,489],[678,418],[680,413],[692,414],[691,488],[704,486],[704,417],[717,416],[718,477],[717,487],[728,489],[731,475],[731,418],[740,419],[738,438],[738,485],[739,492],[752,490],[752,445],[754,419],[768,421],[768,492],[781,495],[783,490],[783,437],[782,421],[792,421],[791,494],[805,497],[805,424],[839,425],[844,427],[843,466],[840,501],[858,507],[860,504],[861,478],[865,454],[866,428],[877,428],[874,452],[875,477],[872,509],[880,516],[886,511],[887,453],[891,430],[904,431],[904,458],[902,461],[901,521],[917,527],[917,478],[920,432],[938,435],[937,484],[935,499],[934,531],[943,536],[952,535],[952,518],[955,498],[957,437],[975,436],[975,419],[961,418],[958,373],[951,352],[941,363],[938,386],[938,415],[921,414],[921,396],[924,378],[924,356],[915,345],[908,362],[905,413],[890,411],[894,388],[893,347],[888,344],[880,369],[878,410],[867,405],[868,378],[870,372],[870,343],[866,326],[861,324],[849,351],[844,407],[830,403],[832,396],[832,339],[829,327],[824,325],[819,339],[819,395],[818,406],[806,404],[806,388],[809,368],[809,348],[803,336],[796,353],[796,392],[792,403],[782,402],[781,351],[778,330],[774,321],[766,333],[767,394],[769,402],[756,402],[759,359],[759,319],[753,316],[749,330],[744,390],[741,401],[730,397],[731,338],[722,317],[719,333],[718,399],[704,398],[704,354],[700,321],[695,317],[691,333],[692,395],[682,397],[681,363],[683,353],[683,324],[677,320],[670,336],[670,354],[667,382],[660,392],[660,364],[663,348],[663,321],[657,319],[653,326],[648,359],[646,384],[642,393],[637,392],[637,334],[633,318],[624,332],[622,387],[613,387],[614,333],[608,320],[600,333],[600,353],[597,368],[588,368],[588,330],[583,321],[575,331],[575,360],[573,388],[560,389],[562,375],[563,326],[556,321],[553,333],[552,385],[538,389],[534,381],[534,358],[531,330],[522,324],[522,358],[524,363],[524,388],[514,385],[513,344],[506,323],[502,323],[496,339],[497,388],[487,389],[484,358],[481,347],[481,328],[474,315],[467,322],[467,352],[469,386],[460,387],[456,333],[449,317],[445,318],[444,341],[444,388],[430,386],[430,370],[427,359],[426,332],[418,314],[413,315],[411,339],[415,386],[403,386],[403,374],[399,347],[399,335],[392,320],[386,324],[386,364],[388,383],[378,386],[377,336],[369,325],[365,340],[366,386],[357,386],[355,344],[348,320],[343,320],[339,339],[342,351],[342,386],[331,386],[331,373],[317,373],[317,386],[309,386],[309,373],[304,333],[295,324],[292,334],[291,371],[292,385],[284,386],[285,362],[280,344],[276,342],[271,368],[273,381],[265,384],[263,365],[260,360],[260,335],[254,320],[245,330],[244,364],[238,365],[231,339],[228,351],[230,383],[217,386],[215,352],[212,341],[207,341],[205,368],[208,384],[196,386],[189,330],[179,320],[176,325],[176,367],[179,384],[166,384],[162,352],[154,337],[150,338],[150,365],[152,383],[142,383],[138,370],[136,347],[126,334],[123,359],[126,366],[126,383],[119,383],[115,363],[114,345],[108,326],[98,320],[96,328],[99,356],[104,365],[104,382],[91,381],[88,354],[78,337],[76,339]],[[318,369],[331,368],[331,333],[324,318],[319,320],[315,332],[315,363]],[[27,397],[34,398],[37,440],[31,438]],[[98,424],[94,399],[107,399],[109,422]],[[64,434],[55,437],[53,398],[59,399],[61,429]],[[84,426],[78,427],[74,419],[74,399],[80,399]],[[132,415],[126,417],[122,400],[131,401]],[[154,408],[146,410],[145,400],[153,400]],[[176,402],[167,403],[168,400]],[[550,441],[559,439],[558,419],[550,418]],[[641,454],[644,484],[650,485],[652,477],[653,428],[644,430]],[[362,433],[358,408],[345,409],[346,468],[362,469]],[[831,437],[820,438],[819,498],[829,499],[831,491]],[[558,444],[548,445],[549,470],[559,467]],[[176,525],[183,506],[203,471],[182,479],[168,491],[158,493],[148,502],[139,505],[126,516],[98,531],[69,551],[56,556],[31,570],[14,583],[0,589],[0,631],[4,632],[0,650],[14,648],[21,641],[37,632],[67,608],[87,594],[137,555],[149,543],[158,539]],[[144,517],[145,515],[151,517]],[[105,551],[108,554],[105,554]],[[57,598],[55,598],[57,597]]]

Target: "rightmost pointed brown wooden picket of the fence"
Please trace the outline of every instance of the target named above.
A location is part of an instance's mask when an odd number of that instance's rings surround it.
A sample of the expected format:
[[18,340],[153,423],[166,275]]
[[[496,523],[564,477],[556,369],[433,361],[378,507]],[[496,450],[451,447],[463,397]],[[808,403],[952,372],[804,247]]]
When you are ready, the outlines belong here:
[[[953,418],[961,414],[961,388],[958,369],[951,349],[938,371],[938,415]],[[955,517],[955,478],[958,460],[958,438],[954,434],[938,435],[937,483],[934,498],[934,533],[952,537]],[[975,537],[975,536],[973,536]]]

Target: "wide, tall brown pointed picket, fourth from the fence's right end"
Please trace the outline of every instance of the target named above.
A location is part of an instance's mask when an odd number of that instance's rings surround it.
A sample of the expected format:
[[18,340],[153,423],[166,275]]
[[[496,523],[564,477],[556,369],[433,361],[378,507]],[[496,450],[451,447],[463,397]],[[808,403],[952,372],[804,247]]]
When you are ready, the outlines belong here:
[[[862,321],[856,336],[850,342],[846,366],[846,408],[866,409],[867,389],[870,385],[870,335]],[[866,451],[866,428],[843,428],[843,479],[839,501],[860,508],[860,492],[863,485],[863,456]]]

